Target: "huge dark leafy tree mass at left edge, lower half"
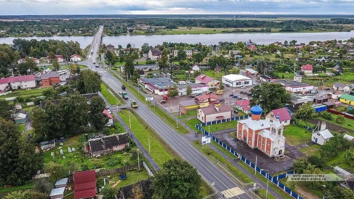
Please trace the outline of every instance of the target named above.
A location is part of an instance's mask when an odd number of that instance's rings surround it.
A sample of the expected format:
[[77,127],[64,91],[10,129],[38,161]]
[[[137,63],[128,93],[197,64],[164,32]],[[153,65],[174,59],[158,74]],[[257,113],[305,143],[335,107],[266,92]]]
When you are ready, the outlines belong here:
[[43,164],[43,153],[21,139],[18,127],[0,118],[0,185],[20,185],[32,178]]

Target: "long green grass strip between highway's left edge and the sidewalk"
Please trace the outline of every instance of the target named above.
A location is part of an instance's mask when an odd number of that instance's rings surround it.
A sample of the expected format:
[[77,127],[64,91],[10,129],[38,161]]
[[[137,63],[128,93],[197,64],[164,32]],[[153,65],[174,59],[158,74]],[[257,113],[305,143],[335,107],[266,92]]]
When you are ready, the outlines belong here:
[[150,137],[150,155],[155,160],[156,164],[162,166],[165,161],[173,158],[173,156],[167,152],[172,152],[173,150],[168,147],[162,138],[137,114],[132,114],[128,110],[122,110],[118,114],[128,126],[130,115],[131,131],[147,151],[149,151],[148,137]]

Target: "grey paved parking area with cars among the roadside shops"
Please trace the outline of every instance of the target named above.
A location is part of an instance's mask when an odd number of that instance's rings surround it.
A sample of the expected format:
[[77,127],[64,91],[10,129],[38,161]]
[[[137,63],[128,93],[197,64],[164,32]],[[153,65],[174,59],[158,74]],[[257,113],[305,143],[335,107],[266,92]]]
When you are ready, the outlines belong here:
[[[223,101],[223,104],[229,104],[229,106],[231,108],[233,108],[234,103],[237,101],[240,101],[240,99],[230,97],[230,94],[234,94],[236,96],[241,96],[243,98],[247,97],[248,99],[252,99],[252,97],[240,93],[240,91],[249,92],[252,87],[253,86],[246,86],[245,89],[241,89],[241,87],[236,87],[236,88],[235,87],[225,87],[224,93],[221,95],[217,95],[217,96],[219,97],[219,99],[225,100],[225,101]],[[216,91],[213,90],[213,93],[215,93],[215,92]],[[195,96],[195,94],[192,96]],[[189,100],[189,99],[193,99],[193,98],[190,98],[189,95],[176,96],[176,97],[169,98],[167,100],[167,103],[161,104],[161,106],[164,107],[167,111],[169,111],[171,113],[176,113],[176,112],[179,112],[179,102]],[[162,96],[154,95],[154,100],[155,100],[155,103],[160,103],[160,101],[162,100]]]

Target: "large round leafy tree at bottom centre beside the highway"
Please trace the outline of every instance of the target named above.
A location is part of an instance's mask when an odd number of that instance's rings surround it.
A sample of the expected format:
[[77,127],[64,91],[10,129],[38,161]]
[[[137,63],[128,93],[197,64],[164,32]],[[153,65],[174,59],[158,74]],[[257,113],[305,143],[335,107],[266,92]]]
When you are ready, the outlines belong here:
[[155,174],[153,198],[199,198],[201,177],[185,160],[170,159]]

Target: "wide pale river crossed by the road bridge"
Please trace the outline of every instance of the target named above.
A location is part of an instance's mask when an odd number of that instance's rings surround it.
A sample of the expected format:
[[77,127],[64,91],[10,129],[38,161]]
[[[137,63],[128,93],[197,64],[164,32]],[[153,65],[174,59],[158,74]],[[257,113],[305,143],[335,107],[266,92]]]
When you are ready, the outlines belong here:
[[[185,35],[121,35],[121,36],[105,36],[102,42],[106,45],[119,44],[125,47],[130,43],[133,47],[140,48],[145,42],[149,45],[156,46],[162,42],[183,42],[188,44],[217,44],[219,41],[248,41],[251,39],[256,44],[270,44],[275,41],[284,42],[285,40],[296,40],[298,43],[308,43],[310,41],[326,41],[326,40],[347,40],[354,37],[354,31],[351,32],[329,32],[329,33],[227,33],[227,34],[185,34]],[[22,38],[22,37],[18,37]],[[92,36],[51,36],[51,37],[23,37],[24,39],[59,39],[64,41],[78,41],[81,48],[91,44]],[[0,38],[0,44],[12,44],[13,37]]]

